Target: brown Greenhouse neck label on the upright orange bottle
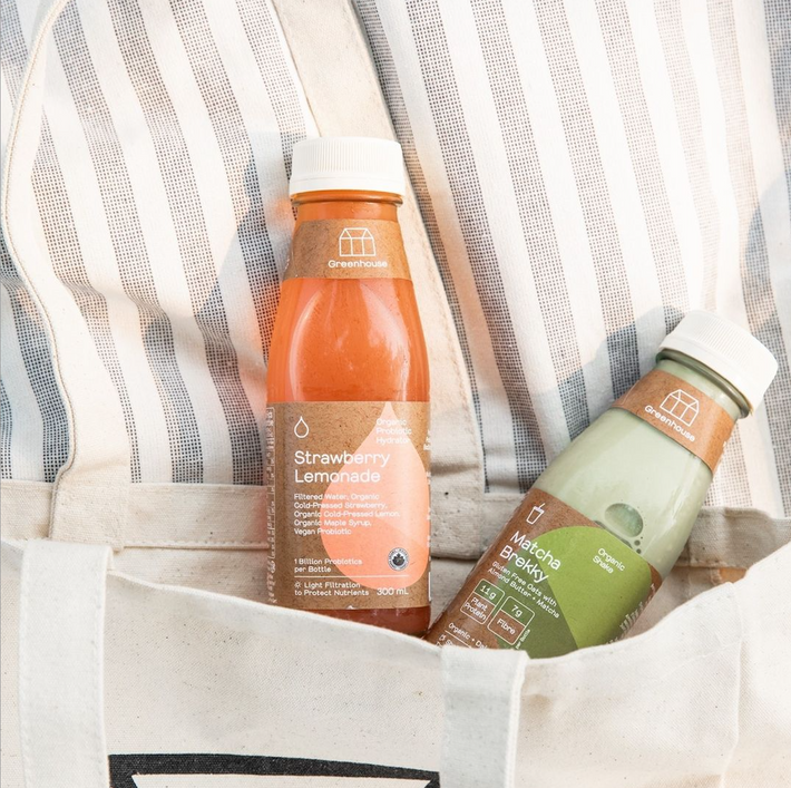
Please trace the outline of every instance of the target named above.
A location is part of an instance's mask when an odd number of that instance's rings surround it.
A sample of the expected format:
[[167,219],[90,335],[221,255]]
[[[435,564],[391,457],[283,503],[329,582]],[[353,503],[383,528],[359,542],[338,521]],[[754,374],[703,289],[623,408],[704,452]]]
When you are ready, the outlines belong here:
[[283,279],[411,279],[398,222],[326,218],[294,233]]

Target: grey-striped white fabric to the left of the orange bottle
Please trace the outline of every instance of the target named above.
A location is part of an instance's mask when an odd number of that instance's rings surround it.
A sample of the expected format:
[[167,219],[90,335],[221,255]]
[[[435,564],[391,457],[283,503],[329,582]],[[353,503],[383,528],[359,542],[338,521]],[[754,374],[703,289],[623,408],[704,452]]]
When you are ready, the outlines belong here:
[[[10,106],[35,4],[2,0],[2,22]],[[72,1],[47,45],[36,206],[118,397],[131,480],[258,485],[291,149],[315,134],[273,10]],[[51,481],[64,403],[7,253],[2,266],[3,478]]]

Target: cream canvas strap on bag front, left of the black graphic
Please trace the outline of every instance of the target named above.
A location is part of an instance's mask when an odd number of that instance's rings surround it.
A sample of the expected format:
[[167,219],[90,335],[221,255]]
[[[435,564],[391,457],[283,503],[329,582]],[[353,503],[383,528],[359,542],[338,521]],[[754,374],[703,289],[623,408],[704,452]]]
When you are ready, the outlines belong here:
[[25,548],[19,719],[26,788],[107,788],[104,632],[109,547]]

